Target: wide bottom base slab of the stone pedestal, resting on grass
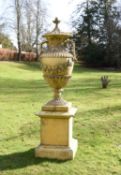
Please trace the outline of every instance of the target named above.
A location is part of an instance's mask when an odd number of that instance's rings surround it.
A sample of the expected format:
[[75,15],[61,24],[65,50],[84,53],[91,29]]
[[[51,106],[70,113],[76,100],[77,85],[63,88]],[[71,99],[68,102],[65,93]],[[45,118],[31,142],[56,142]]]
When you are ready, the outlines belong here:
[[41,158],[50,158],[58,160],[71,160],[77,151],[77,140],[73,139],[71,146],[45,146],[40,145],[35,149],[35,156]]

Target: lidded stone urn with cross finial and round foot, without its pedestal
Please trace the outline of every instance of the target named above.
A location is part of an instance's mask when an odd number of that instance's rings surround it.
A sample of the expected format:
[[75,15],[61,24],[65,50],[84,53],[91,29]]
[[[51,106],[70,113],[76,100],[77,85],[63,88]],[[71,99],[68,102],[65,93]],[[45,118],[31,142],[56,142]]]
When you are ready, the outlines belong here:
[[74,60],[75,45],[71,33],[61,32],[58,28],[59,20],[53,21],[56,26],[50,33],[44,35],[46,40],[41,43],[41,65],[43,76],[54,89],[54,98],[49,101],[43,110],[67,111],[70,103],[61,97],[61,91],[71,78]]

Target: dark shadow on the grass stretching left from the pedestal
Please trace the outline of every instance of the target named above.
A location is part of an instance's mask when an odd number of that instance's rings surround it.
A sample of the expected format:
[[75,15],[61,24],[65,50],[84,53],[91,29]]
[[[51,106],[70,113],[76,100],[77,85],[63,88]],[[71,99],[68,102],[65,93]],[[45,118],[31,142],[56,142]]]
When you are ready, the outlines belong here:
[[35,148],[24,152],[12,153],[8,155],[0,155],[0,171],[20,169],[31,165],[42,164],[44,162],[51,163],[63,163],[65,161],[47,159],[47,158],[36,158]]

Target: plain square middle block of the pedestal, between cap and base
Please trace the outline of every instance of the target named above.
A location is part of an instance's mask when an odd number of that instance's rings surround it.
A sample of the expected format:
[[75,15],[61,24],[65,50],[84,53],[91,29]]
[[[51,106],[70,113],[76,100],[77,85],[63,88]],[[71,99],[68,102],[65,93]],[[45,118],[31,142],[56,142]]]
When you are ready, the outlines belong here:
[[41,144],[69,146],[72,139],[72,117],[42,117],[41,118]]

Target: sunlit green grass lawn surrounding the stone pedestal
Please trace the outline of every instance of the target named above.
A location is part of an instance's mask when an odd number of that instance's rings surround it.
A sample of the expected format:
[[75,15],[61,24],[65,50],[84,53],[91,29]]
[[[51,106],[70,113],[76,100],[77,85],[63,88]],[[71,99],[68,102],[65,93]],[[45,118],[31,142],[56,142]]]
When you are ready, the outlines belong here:
[[[101,89],[100,77],[111,79]],[[39,118],[52,97],[37,63],[0,62],[0,175],[121,175],[121,73],[75,67],[63,96],[78,107],[73,161],[34,157]]]

